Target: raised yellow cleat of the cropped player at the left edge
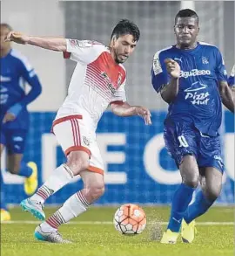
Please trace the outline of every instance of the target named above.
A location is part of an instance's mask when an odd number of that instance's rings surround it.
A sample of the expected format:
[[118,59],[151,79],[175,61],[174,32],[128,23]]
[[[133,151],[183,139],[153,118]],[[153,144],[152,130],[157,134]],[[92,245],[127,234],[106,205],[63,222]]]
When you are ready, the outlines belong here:
[[37,190],[37,164],[34,162],[29,162],[27,164],[32,169],[32,174],[26,177],[24,180],[24,191],[27,195],[32,195]]

